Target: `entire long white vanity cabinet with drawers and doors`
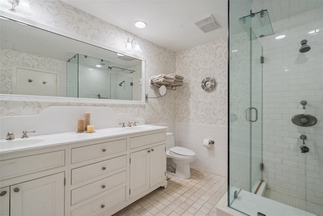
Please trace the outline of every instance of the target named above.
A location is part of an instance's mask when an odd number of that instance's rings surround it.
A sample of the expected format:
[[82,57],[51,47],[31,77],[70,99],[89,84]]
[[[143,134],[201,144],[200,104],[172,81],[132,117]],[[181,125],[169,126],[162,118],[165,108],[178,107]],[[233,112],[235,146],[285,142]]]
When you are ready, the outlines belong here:
[[58,134],[49,146],[0,152],[0,215],[107,216],[167,187],[166,127],[148,128]]

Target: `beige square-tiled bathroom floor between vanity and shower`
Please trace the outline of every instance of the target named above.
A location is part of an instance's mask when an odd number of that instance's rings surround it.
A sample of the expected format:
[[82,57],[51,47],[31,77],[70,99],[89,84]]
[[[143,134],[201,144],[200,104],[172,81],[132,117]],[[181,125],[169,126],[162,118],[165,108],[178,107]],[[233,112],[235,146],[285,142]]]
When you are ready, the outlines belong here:
[[215,205],[227,192],[227,178],[194,168],[190,179],[168,177],[166,189],[158,188],[114,215],[217,215]]

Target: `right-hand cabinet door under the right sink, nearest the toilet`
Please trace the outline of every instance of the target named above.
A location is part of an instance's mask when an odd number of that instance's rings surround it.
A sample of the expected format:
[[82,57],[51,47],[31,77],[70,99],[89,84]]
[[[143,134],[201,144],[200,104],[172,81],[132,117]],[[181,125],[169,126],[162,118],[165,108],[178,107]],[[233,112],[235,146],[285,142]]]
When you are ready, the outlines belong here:
[[150,149],[150,187],[166,179],[165,145]]

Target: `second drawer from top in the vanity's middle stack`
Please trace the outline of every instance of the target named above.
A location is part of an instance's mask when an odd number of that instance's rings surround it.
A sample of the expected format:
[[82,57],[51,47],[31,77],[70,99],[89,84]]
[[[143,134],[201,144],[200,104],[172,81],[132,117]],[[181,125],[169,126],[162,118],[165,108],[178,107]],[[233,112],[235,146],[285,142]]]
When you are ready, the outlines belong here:
[[86,166],[72,169],[72,184],[82,182],[107,172],[127,166],[127,156],[111,158],[101,162],[92,163]]

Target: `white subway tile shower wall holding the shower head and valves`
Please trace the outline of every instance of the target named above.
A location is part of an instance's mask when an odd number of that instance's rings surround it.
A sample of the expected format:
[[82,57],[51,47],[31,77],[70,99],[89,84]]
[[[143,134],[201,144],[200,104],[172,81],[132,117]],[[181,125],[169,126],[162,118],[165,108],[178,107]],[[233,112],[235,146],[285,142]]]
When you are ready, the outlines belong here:
[[[274,35],[263,46],[263,180],[287,195],[323,205],[323,20],[322,8],[273,23]],[[276,40],[275,37],[286,37]],[[311,50],[299,53],[307,39]],[[305,110],[300,101],[306,100]],[[317,123],[294,125],[296,114]],[[306,135],[309,152],[301,153]]]

